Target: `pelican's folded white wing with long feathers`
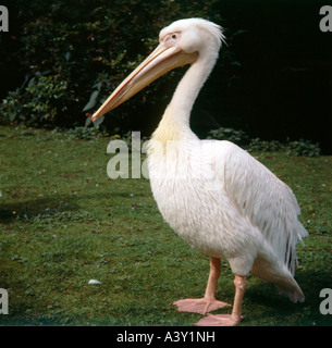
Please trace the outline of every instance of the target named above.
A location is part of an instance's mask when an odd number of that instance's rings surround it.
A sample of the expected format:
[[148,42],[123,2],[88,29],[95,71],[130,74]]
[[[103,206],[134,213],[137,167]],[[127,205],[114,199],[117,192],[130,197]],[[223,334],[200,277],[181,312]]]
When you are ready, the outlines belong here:
[[258,226],[278,260],[294,274],[297,240],[308,233],[298,221],[299,206],[291,188],[236,145],[222,141],[228,196]]

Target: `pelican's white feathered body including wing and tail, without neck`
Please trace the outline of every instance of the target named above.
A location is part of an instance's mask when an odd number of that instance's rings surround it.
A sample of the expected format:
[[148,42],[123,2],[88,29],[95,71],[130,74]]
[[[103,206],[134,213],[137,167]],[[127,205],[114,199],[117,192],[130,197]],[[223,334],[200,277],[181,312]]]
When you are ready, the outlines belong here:
[[[302,301],[292,273],[295,244],[306,232],[291,189],[230,141],[193,139],[172,151],[162,157],[157,150],[148,162],[153,197],[170,226],[190,247],[226,259],[234,274],[253,271]],[[253,191],[245,195],[246,187]]]

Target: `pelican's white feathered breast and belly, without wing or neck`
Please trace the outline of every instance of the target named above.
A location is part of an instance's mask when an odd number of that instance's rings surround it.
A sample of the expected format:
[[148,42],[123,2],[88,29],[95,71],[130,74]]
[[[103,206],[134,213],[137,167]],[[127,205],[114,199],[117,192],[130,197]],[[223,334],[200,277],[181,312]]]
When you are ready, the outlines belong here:
[[[235,274],[246,275],[262,238],[225,190],[222,173],[234,148],[229,141],[195,139],[167,159],[150,154],[148,165],[153,197],[170,226],[190,247],[229,260]],[[217,166],[221,175],[213,177]]]

